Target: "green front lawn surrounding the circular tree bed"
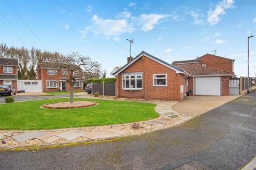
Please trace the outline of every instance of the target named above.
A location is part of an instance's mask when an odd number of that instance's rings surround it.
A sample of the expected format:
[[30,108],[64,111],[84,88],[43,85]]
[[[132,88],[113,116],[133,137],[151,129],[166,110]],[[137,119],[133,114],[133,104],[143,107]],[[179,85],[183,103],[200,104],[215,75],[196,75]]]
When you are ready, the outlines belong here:
[[0,130],[75,128],[145,121],[158,117],[155,104],[100,99],[97,106],[75,109],[45,109],[42,105],[68,98],[45,99],[0,105]]

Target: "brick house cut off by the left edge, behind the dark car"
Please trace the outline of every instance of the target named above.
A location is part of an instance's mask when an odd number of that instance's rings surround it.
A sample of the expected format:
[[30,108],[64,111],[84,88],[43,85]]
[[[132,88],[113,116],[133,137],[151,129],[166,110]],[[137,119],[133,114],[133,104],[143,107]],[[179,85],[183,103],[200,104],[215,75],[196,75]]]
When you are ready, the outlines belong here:
[[18,60],[0,58],[0,85],[12,85],[17,90]]

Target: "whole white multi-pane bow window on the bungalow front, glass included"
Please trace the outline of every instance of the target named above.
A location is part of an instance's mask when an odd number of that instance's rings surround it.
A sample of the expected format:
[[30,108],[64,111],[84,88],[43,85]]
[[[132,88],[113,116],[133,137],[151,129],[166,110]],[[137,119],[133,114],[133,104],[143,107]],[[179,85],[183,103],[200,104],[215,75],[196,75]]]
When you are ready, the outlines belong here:
[[142,89],[142,74],[127,74],[123,75],[123,89],[141,90]]

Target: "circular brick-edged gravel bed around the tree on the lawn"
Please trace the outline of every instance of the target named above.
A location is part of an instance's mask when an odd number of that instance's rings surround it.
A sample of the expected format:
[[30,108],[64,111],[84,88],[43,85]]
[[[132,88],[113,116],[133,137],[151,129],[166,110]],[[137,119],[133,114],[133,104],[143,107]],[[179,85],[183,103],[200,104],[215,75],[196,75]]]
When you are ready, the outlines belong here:
[[55,102],[55,103],[49,103],[43,105],[43,108],[81,108],[81,107],[89,107],[97,105],[94,101],[74,101],[73,103],[70,103],[69,101],[65,102]]

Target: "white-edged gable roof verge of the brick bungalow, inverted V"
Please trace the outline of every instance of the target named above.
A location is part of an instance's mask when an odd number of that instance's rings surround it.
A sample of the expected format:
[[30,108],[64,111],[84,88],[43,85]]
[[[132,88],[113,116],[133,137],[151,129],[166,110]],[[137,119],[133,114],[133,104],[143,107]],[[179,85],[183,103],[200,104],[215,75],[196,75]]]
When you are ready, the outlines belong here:
[[163,60],[161,60],[161,59],[159,59],[159,58],[157,58],[157,57],[155,57],[151,54],[148,54],[148,53],[142,51],[140,54],[138,54],[136,57],[134,57],[129,63],[126,63],[124,66],[121,67],[121,69],[119,69],[118,71],[113,73],[113,75],[117,75],[118,73],[122,72],[124,69],[126,69],[126,67],[130,66],[132,63],[137,61],[143,55],[145,55],[146,57],[151,58],[152,60],[154,60],[158,63],[161,63],[161,64],[169,67],[170,69],[173,69],[173,70],[177,71],[177,73],[185,73],[186,74],[186,72],[184,70],[181,70],[181,69],[179,69],[178,67],[176,67],[174,65],[171,65],[171,64],[169,64],[169,63],[167,63],[167,62],[165,62],[165,61],[163,61]]

